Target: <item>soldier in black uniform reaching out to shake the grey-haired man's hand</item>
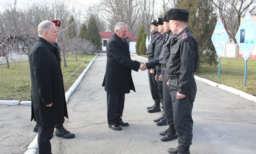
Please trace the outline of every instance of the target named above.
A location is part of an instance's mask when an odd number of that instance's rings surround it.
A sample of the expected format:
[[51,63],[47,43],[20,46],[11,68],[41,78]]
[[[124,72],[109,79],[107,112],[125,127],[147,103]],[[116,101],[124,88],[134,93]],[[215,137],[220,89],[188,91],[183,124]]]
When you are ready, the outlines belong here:
[[166,70],[166,63],[170,56],[170,46],[171,42],[174,38],[174,35],[172,34],[172,31],[170,30],[169,26],[169,20],[167,19],[167,14],[163,17],[163,27],[164,27],[164,33],[166,33],[166,38],[164,40],[163,48],[161,51],[161,55],[156,58],[154,61],[147,62],[145,65],[147,68],[151,68],[153,66],[161,64],[161,75],[163,77],[163,101],[164,101],[164,113],[165,113],[165,119],[167,124],[169,125],[169,128],[167,128],[165,131],[161,131],[160,135],[164,136],[161,138],[161,141],[171,141],[175,138],[178,138],[178,135],[176,134],[176,130],[173,123],[173,112],[172,112],[172,100],[169,93],[169,87],[167,86],[167,70]]

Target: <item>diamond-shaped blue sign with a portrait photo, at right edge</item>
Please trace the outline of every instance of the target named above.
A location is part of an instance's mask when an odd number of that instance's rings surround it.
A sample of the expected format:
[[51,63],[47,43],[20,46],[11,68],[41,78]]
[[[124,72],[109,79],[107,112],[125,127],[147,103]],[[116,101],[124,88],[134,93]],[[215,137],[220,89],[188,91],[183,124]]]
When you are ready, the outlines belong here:
[[247,61],[256,43],[256,26],[249,12],[244,16],[244,21],[236,33],[236,42]]

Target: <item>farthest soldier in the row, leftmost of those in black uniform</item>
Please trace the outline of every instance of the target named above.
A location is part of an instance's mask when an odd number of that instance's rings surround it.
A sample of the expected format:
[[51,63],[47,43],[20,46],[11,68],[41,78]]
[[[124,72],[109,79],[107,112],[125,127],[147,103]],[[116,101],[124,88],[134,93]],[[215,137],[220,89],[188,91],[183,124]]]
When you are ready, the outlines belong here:
[[[156,44],[159,41],[161,34],[157,31],[157,23],[156,20],[152,20],[151,22],[151,27],[150,27],[150,31],[153,33],[153,37],[150,41],[150,44],[148,46],[148,51],[146,52],[146,55],[148,56],[148,62],[152,61],[154,59],[154,54],[155,54],[155,48],[156,48]],[[157,88],[157,81],[155,80],[155,76],[156,76],[156,71],[155,71],[155,67],[152,69],[148,69],[148,81],[149,81],[149,88],[150,88],[150,92],[151,92],[151,96],[155,102],[154,105],[152,106],[148,106],[148,112],[149,113],[154,113],[154,112],[159,112],[161,111],[160,108],[160,97],[159,97],[159,93],[158,93],[158,88]]]

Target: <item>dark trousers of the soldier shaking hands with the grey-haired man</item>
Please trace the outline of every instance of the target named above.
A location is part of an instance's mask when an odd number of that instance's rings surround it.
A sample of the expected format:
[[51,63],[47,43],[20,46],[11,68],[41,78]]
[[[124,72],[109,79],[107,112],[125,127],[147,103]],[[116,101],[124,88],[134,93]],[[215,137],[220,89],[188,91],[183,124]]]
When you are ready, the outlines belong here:
[[163,98],[164,98],[164,116],[166,119],[166,123],[169,126],[173,125],[173,112],[172,112],[172,99],[170,96],[170,90],[169,87],[167,86],[167,73],[166,69],[164,68],[163,71]]

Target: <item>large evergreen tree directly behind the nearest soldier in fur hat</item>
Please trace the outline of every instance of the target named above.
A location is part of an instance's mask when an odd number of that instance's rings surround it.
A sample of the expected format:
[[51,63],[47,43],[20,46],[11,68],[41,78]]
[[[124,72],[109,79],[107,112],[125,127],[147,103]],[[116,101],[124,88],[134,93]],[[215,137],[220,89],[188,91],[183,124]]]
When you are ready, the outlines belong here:
[[177,0],[176,6],[189,12],[187,27],[198,42],[200,64],[216,65],[217,55],[211,37],[217,16],[211,0]]

